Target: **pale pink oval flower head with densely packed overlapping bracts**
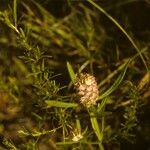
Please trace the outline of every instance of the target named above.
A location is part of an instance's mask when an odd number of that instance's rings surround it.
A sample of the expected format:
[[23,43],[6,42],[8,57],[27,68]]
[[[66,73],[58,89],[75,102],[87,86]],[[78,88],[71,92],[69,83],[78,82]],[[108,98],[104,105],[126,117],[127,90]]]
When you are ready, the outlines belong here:
[[80,73],[77,75],[75,83],[77,95],[80,97],[80,102],[86,106],[91,107],[96,104],[99,91],[97,82],[94,76],[88,73]]

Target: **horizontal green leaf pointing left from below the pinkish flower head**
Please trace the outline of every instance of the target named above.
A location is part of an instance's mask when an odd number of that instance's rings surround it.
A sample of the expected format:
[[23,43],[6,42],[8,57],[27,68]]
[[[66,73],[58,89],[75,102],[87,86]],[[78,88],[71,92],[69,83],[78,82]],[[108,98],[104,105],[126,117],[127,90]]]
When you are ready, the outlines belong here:
[[78,104],[76,103],[67,103],[67,102],[61,102],[61,101],[54,101],[54,100],[46,100],[45,103],[47,104],[46,108],[50,107],[77,107]]

